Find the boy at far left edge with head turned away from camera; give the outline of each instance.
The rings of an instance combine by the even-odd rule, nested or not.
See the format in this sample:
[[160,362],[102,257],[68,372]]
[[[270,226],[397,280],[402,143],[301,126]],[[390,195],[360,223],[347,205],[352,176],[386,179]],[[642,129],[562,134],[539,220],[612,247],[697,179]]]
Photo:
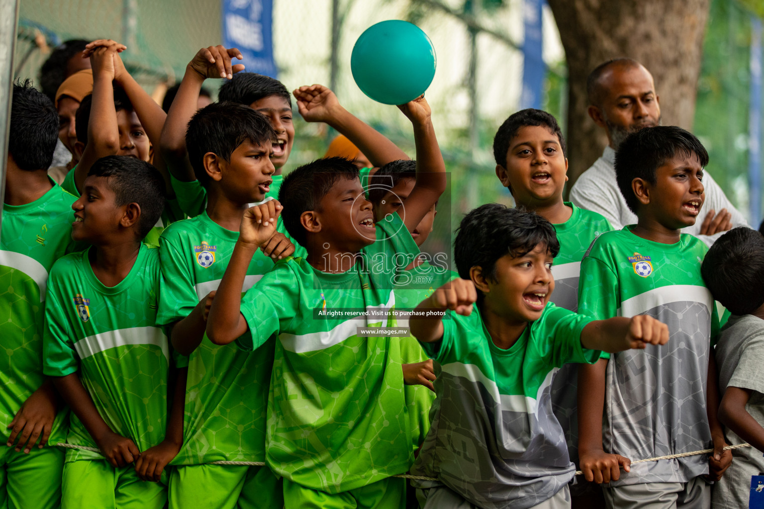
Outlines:
[[[13,85],[0,232],[0,507],[52,509],[61,501],[65,417],[42,371],[45,285],[72,247],[74,198],[47,176],[58,115],[29,82]],[[48,441],[52,446],[48,446]],[[21,450],[24,453],[21,453]]]

